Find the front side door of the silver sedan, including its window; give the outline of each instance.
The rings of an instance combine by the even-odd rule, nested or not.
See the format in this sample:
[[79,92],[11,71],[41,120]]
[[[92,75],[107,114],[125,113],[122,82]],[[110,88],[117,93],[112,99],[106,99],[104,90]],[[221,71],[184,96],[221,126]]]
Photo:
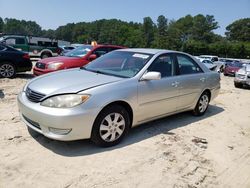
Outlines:
[[138,120],[145,121],[176,110],[178,87],[175,84],[175,64],[172,54],[160,55],[147,70],[160,72],[160,80],[139,81]]

